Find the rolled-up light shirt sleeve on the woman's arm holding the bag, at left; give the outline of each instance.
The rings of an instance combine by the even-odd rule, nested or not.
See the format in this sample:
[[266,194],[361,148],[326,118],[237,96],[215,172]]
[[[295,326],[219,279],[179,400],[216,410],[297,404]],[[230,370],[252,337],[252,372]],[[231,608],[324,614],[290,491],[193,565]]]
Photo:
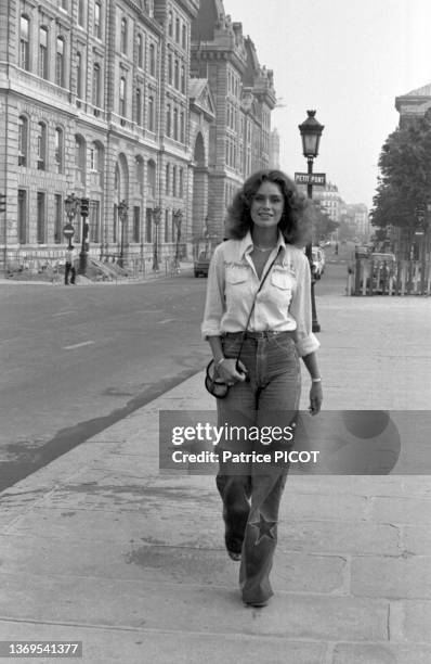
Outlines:
[[219,245],[212,255],[208,269],[207,298],[204,321],[200,325],[203,339],[220,336],[224,304],[224,258],[223,246]]

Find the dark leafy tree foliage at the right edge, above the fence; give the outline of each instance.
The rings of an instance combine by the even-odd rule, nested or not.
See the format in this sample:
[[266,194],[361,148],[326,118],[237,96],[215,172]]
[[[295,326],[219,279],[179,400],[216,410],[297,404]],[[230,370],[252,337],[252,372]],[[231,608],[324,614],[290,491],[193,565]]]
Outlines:
[[374,226],[412,226],[415,209],[431,200],[431,113],[397,128],[382,146]]

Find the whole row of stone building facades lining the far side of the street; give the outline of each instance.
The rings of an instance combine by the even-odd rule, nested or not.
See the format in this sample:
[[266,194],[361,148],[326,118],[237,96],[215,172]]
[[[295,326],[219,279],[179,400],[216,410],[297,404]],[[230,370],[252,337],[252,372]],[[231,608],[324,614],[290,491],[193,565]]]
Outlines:
[[221,240],[234,191],[269,164],[274,105],[221,1],[3,0],[0,270],[63,257],[71,193],[89,199],[88,235],[70,220],[93,257]]

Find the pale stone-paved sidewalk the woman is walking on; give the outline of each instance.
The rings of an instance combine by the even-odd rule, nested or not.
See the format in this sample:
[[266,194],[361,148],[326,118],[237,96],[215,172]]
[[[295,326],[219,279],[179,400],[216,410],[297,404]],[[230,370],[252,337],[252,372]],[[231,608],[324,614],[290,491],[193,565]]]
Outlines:
[[[429,409],[429,301],[318,315],[327,410]],[[246,609],[213,477],[158,471],[159,410],[213,407],[196,374],[0,495],[0,640],[81,640],[89,664],[429,664],[429,477],[291,473],[275,597]]]

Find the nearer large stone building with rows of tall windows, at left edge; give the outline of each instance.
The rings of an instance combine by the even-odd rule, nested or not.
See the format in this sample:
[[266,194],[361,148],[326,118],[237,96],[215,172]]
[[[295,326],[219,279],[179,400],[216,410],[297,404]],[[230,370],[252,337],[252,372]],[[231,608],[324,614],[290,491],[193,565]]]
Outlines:
[[[188,78],[198,4],[1,2],[0,268],[23,254],[63,254],[73,192],[90,200],[94,256],[123,251],[127,260],[151,260],[155,243],[160,256],[172,255],[181,215],[181,238],[191,237]],[[73,221],[76,244],[82,224]]]

